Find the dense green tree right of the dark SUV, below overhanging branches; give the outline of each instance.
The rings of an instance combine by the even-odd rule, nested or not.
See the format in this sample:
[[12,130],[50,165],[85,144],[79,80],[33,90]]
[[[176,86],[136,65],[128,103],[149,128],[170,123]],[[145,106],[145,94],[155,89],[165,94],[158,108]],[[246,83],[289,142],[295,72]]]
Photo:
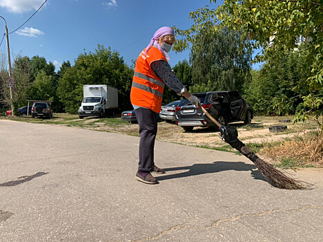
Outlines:
[[252,82],[245,85],[245,98],[255,113],[287,115],[300,109],[302,100],[295,92],[295,86],[306,80],[300,53],[292,52],[279,63],[267,63],[260,71],[252,72]]

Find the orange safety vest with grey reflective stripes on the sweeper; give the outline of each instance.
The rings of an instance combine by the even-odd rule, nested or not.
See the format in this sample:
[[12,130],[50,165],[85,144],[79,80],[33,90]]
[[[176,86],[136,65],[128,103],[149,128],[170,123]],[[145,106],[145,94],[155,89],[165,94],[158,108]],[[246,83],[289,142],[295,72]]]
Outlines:
[[159,113],[165,82],[157,77],[150,68],[150,64],[159,59],[167,62],[167,59],[155,46],[152,46],[146,55],[144,55],[145,50],[142,50],[136,62],[130,100],[135,106],[148,108]]

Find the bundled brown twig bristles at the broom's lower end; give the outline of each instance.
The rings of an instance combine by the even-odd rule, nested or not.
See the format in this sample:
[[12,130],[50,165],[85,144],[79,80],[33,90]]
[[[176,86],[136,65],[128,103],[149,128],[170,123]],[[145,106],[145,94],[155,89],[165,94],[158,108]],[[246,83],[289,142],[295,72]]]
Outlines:
[[244,145],[244,143],[241,141],[237,140],[235,144],[230,145],[249,158],[260,170],[268,183],[273,185],[273,187],[278,187],[281,189],[309,189],[309,185],[306,185],[302,181],[294,180],[293,178],[284,174],[282,171],[275,169],[275,167],[270,163],[267,163],[256,156],[255,153],[253,153],[253,151],[251,151],[251,149]]

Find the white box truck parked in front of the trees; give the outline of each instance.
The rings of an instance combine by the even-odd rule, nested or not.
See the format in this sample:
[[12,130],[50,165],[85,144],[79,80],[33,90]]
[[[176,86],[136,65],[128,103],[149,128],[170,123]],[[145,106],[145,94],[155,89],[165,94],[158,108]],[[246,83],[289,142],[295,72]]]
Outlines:
[[83,100],[79,107],[79,118],[104,117],[118,111],[118,90],[107,85],[84,85]]

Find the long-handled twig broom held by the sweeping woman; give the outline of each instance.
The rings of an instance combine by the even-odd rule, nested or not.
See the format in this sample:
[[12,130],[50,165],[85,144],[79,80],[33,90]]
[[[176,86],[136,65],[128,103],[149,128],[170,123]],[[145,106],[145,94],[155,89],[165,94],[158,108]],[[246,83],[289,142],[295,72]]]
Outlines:
[[301,181],[294,180],[293,178],[286,176],[286,174],[282,173],[273,167],[273,165],[265,162],[260,159],[258,156],[251,151],[249,147],[244,145],[237,136],[237,129],[235,127],[226,127],[224,125],[219,124],[215,118],[211,116],[208,111],[204,109],[203,106],[199,105],[199,108],[210,118],[216,125],[219,127],[219,131],[222,135],[222,140],[227,142],[231,147],[237,149],[240,153],[242,153],[246,158],[251,160],[255,166],[260,170],[264,178],[273,185],[273,187],[278,187],[281,189],[307,189],[308,186],[304,185]]

